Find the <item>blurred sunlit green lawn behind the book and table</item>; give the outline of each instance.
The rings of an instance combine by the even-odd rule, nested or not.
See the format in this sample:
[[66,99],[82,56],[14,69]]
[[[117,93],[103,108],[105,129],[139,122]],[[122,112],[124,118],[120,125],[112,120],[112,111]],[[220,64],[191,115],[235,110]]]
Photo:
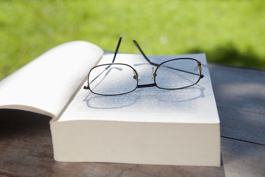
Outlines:
[[0,80],[45,51],[86,40],[147,55],[206,53],[265,69],[265,1],[0,1]]

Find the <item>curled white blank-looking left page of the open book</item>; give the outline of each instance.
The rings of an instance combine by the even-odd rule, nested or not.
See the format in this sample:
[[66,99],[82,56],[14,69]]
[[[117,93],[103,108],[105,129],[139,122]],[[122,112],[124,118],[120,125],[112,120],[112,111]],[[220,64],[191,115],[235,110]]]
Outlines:
[[58,116],[102,55],[85,41],[47,51],[0,82],[0,108]]

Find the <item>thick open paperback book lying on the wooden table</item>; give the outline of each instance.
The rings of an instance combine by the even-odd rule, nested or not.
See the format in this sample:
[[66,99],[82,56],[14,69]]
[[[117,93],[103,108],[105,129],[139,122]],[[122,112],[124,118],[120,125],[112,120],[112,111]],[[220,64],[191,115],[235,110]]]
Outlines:
[[[148,56],[155,63],[204,54]],[[139,88],[119,96],[84,90],[89,70],[113,54],[85,41],[51,49],[0,82],[0,108],[49,115],[54,157],[70,162],[220,166],[220,120],[209,71],[181,90]],[[118,54],[148,84],[142,55]]]

